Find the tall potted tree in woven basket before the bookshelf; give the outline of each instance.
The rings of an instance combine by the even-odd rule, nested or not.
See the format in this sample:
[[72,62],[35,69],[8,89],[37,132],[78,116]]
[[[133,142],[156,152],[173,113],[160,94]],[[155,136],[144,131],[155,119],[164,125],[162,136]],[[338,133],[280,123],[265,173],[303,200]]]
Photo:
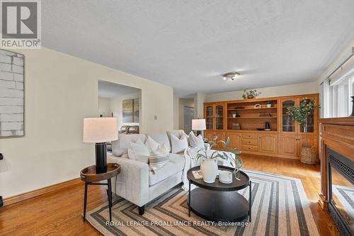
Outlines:
[[314,111],[316,108],[315,106],[315,99],[307,99],[304,98],[300,106],[292,106],[287,108],[287,114],[295,120],[297,123],[304,127],[304,134],[306,137],[305,145],[301,147],[301,154],[300,160],[302,163],[305,164],[315,164],[316,163],[316,152],[314,147],[309,146],[309,140],[307,137],[307,118],[310,113]]

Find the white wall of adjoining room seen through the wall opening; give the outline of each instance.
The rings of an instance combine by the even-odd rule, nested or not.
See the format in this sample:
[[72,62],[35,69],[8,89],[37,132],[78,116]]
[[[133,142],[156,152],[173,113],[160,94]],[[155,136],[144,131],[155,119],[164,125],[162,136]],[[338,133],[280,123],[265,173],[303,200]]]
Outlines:
[[141,93],[135,94],[125,94],[122,96],[118,96],[110,99],[110,111],[113,112],[113,116],[117,118],[118,122],[118,130],[122,125],[139,125],[139,123],[124,123],[123,122],[123,104],[122,101],[125,99],[139,99],[139,118],[141,118]]

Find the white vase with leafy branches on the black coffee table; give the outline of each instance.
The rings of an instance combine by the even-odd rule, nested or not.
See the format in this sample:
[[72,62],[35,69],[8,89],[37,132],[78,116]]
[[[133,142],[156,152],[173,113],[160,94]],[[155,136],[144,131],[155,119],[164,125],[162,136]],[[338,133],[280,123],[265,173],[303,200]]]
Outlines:
[[235,178],[238,179],[237,173],[239,173],[239,170],[242,168],[243,162],[242,159],[239,157],[239,154],[241,154],[240,151],[235,150],[232,147],[227,147],[229,145],[230,139],[227,137],[227,141],[224,142],[224,140],[218,140],[217,141],[217,136],[210,140],[208,143],[210,144],[210,149],[217,145],[217,142],[222,143],[223,147],[227,152],[222,152],[222,151],[215,151],[212,152],[211,155],[207,154],[207,150],[201,149],[198,151],[197,156],[195,159],[201,159],[200,161],[200,171],[202,172],[202,178],[203,181],[207,183],[214,183],[215,178],[218,173],[217,169],[217,157],[229,161],[232,167],[235,167],[234,172],[232,172],[235,175]]

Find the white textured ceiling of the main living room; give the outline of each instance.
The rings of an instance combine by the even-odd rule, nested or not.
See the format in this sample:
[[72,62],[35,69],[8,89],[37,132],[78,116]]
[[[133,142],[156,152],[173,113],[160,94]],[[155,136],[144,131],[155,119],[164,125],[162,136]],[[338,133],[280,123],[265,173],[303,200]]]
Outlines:
[[[45,0],[42,45],[178,96],[314,81],[354,38],[353,0]],[[221,79],[238,71],[234,82]]]

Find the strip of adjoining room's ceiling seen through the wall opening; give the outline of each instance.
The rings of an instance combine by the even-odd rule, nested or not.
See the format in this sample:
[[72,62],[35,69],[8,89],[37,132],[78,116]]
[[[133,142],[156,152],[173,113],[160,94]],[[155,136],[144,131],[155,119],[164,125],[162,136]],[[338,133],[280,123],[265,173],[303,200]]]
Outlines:
[[130,86],[121,84],[113,84],[110,82],[98,81],[98,96],[103,98],[114,98],[116,96],[122,96],[125,94],[135,94],[140,89],[136,89]]

